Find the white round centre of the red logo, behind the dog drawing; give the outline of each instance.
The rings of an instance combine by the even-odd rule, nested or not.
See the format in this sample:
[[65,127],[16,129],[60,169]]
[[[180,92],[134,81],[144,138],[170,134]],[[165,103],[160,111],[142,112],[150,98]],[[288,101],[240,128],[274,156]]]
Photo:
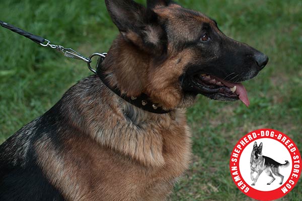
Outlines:
[[[262,147],[261,159],[259,158],[259,153],[253,151],[254,145],[256,145],[255,143],[257,147],[260,147],[260,145]],[[256,155],[258,159],[254,158],[254,160],[252,160],[251,158]],[[265,161],[263,156],[272,160],[267,159],[267,161]],[[275,162],[277,162],[276,164],[285,164],[285,161],[288,161],[289,164],[274,167]],[[256,168],[257,165],[261,166],[262,173],[258,175],[259,177],[255,182],[257,172],[253,172],[252,169]],[[245,147],[239,160],[239,169],[243,179],[251,188],[260,191],[271,191],[279,188],[290,177],[292,160],[289,151],[283,144],[274,139],[262,138],[251,142]],[[253,173],[251,174],[251,172]],[[284,178],[282,184],[280,184],[282,176]],[[251,177],[253,177],[254,180],[252,180]],[[270,183],[272,180],[273,182]],[[254,182],[255,185],[252,185]]]

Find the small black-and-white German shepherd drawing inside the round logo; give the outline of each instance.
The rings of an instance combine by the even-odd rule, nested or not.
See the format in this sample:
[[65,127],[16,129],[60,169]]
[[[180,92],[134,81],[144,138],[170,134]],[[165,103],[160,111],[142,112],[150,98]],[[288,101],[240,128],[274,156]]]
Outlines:
[[[263,144],[260,143],[257,146],[257,142],[254,143],[253,151],[251,154],[251,179],[254,181],[252,185],[255,185],[260,174],[264,171],[268,176],[272,177],[272,180],[267,183],[270,185],[276,178],[273,176],[276,175],[281,178],[280,184],[283,183],[284,176],[280,174],[279,167],[287,167],[289,166],[289,162],[285,161],[284,164],[278,163],[277,161],[262,155],[262,146]],[[254,178],[254,172],[257,173],[256,178]]]

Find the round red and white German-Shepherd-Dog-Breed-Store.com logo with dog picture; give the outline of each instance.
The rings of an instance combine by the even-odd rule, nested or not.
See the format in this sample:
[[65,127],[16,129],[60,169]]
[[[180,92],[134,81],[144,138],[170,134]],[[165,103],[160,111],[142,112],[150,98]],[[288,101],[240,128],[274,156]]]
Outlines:
[[247,133],[230,160],[232,178],[247,196],[268,201],[293,189],[301,174],[301,156],[294,142],[274,129]]

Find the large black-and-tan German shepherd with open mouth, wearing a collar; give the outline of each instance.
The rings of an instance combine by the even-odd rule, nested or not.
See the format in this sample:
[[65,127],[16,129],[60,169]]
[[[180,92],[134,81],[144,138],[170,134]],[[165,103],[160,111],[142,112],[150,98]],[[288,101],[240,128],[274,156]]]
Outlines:
[[[197,94],[248,105],[240,82],[265,54],[170,1],[105,3],[120,34],[104,78],[75,84],[1,145],[0,200],[165,200],[190,163],[185,108]],[[125,101],[141,94],[167,112]]]

